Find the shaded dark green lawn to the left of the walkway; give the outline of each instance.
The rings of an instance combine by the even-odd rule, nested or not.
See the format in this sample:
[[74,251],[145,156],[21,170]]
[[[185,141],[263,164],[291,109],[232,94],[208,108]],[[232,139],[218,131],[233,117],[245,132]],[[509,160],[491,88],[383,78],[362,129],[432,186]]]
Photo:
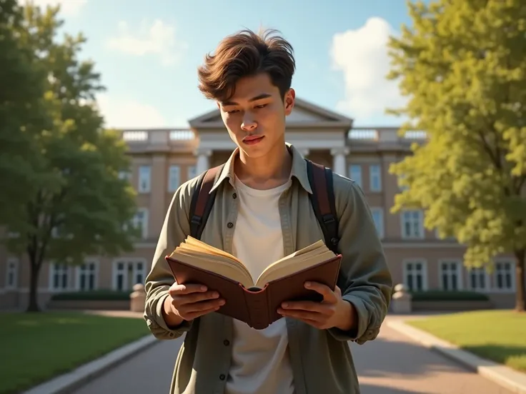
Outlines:
[[18,393],[149,333],[142,318],[0,313],[0,393]]

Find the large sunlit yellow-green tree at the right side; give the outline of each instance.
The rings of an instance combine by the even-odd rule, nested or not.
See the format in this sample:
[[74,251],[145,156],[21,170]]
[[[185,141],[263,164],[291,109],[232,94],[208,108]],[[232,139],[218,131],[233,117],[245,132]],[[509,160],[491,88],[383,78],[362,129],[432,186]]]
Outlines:
[[390,112],[428,141],[395,163],[407,186],[392,212],[418,207],[425,226],[467,246],[465,264],[516,260],[516,310],[525,310],[526,3],[408,3],[412,26],[392,37],[388,79],[405,108]]

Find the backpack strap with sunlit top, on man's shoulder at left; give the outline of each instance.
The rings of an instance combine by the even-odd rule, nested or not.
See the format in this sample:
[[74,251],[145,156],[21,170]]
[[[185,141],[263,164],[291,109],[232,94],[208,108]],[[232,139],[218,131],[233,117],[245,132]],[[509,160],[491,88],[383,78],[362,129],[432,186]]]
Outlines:
[[196,239],[201,239],[204,226],[207,224],[208,216],[214,206],[217,189],[212,191],[214,181],[218,173],[221,172],[224,164],[210,168],[202,173],[192,194],[190,203],[190,235]]

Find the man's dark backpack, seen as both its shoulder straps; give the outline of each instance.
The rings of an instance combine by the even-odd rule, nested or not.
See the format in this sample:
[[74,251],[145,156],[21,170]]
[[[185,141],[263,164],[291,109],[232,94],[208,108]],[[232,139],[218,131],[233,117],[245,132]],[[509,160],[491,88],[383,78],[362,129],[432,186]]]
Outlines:
[[[334,188],[332,184],[332,170],[324,167],[318,163],[314,163],[309,159],[307,161],[307,176],[309,178],[312,194],[309,194],[309,199],[312,204],[312,209],[316,215],[319,226],[321,226],[325,245],[334,253],[337,253],[337,246],[339,242],[338,237],[338,218],[336,213],[336,206],[334,203]],[[222,171],[224,164],[210,168],[202,173],[198,180],[194,193],[192,194],[192,202],[190,203],[190,232],[191,236],[200,239],[204,226],[207,223],[212,206],[214,206],[214,199],[217,188],[212,193],[212,186],[218,173]]]

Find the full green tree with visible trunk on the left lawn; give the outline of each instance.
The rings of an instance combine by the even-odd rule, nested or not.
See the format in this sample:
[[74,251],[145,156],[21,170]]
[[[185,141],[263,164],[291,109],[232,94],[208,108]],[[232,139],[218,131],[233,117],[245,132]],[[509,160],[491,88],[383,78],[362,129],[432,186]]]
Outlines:
[[79,60],[86,39],[55,39],[62,24],[58,13],[59,7],[26,6],[18,31],[46,70],[45,116],[24,126],[39,166],[19,214],[6,223],[19,233],[9,238],[9,249],[29,257],[29,311],[39,310],[36,288],[44,261],[79,264],[89,255],[114,256],[132,248],[136,231],[126,226],[136,209],[134,190],[119,178],[129,168],[125,143],[118,131],[104,129],[94,98],[103,89],[100,76],[91,61]]

